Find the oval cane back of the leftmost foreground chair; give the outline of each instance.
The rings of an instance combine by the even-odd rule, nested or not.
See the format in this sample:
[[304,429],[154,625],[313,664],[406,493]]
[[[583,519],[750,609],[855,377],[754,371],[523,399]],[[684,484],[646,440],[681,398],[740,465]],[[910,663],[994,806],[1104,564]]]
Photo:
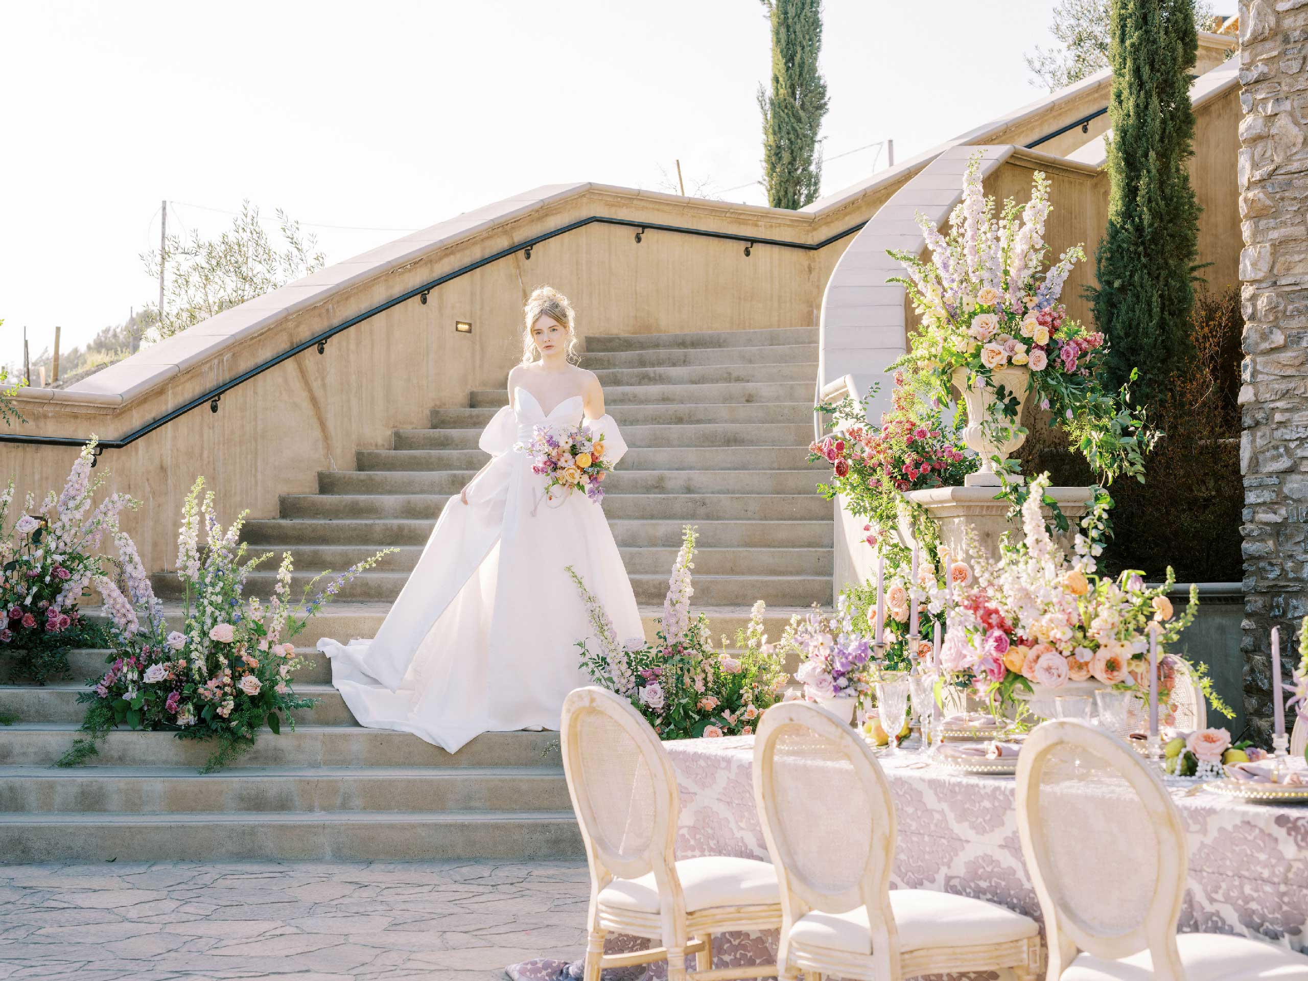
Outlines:
[[615,878],[647,872],[666,892],[676,879],[680,803],[676,774],[653,727],[613,692],[578,688],[564,700],[560,742],[593,895]]

